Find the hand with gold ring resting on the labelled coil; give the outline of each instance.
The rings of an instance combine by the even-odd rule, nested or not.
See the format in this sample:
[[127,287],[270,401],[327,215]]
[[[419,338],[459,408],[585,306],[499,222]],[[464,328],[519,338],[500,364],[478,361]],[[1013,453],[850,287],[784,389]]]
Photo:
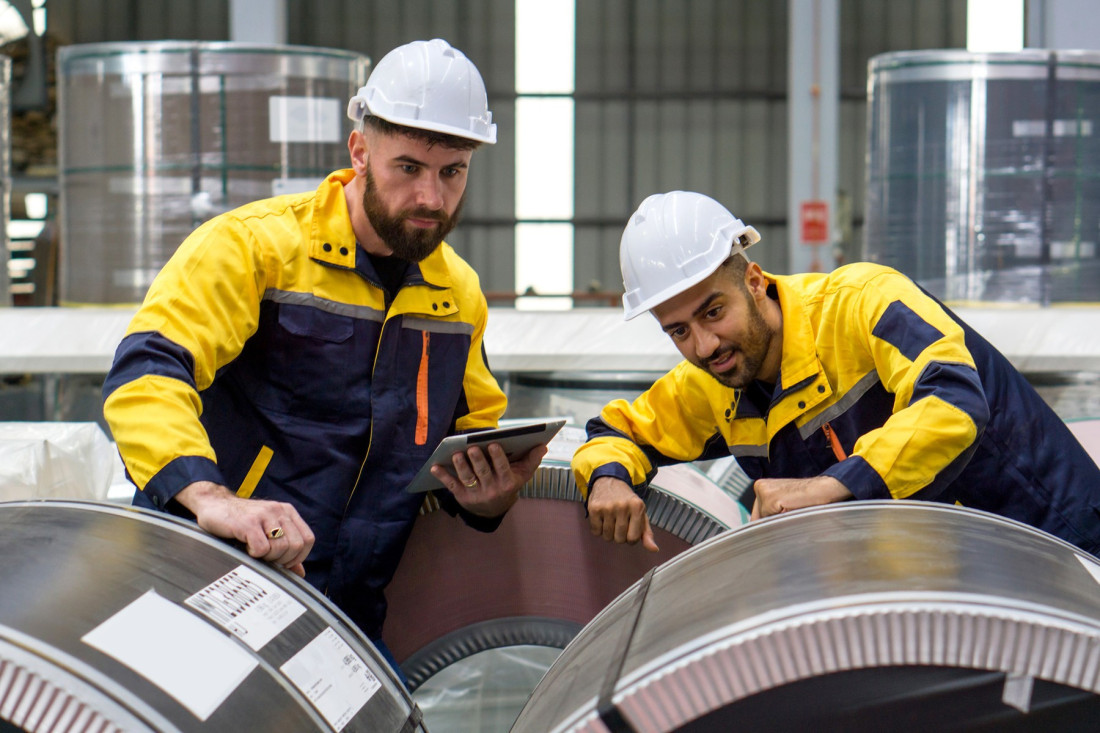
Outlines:
[[241,499],[211,481],[184,486],[176,501],[211,535],[237,539],[252,557],[306,577],[302,562],[314,547],[314,533],[290,504]]

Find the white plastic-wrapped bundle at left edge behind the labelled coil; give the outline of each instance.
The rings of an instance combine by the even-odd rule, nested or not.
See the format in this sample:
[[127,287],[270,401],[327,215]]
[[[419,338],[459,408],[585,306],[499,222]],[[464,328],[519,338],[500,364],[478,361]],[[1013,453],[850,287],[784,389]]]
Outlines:
[[0,423],[0,501],[102,501],[112,455],[95,423]]

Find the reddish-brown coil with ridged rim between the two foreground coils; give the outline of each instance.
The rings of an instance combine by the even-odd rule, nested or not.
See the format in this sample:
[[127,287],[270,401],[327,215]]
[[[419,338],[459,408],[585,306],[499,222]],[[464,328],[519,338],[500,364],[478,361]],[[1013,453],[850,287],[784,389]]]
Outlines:
[[697,469],[662,468],[647,510],[660,547],[615,546],[588,532],[569,458],[583,430],[565,428],[501,527],[473,532],[428,503],[386,591],[384,638],[410,687],[485,649],[563,648],[638,578],[748,516]]

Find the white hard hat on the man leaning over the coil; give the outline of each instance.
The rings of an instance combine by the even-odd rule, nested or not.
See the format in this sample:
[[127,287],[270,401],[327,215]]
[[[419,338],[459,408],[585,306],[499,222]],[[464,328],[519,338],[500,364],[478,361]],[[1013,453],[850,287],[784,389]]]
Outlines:
[[710,196],[653,194],[627,221],[619,244],[626,320],[703,282],[759,241],[756,229]]

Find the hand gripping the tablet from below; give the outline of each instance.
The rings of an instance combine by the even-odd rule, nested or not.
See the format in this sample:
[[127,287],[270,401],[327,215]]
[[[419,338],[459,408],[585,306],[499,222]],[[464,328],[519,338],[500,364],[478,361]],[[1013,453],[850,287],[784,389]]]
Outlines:
[[487,451],[471,446],[464,453],[458,452],[451,457],[453,474],[442,466],[432,466],[431,474],[471,514],[501,516],[519,499],[519,490],[531,480],[546,455],[547,447],[537,446],[522,458],[509,463],[498,442],[490,444]]

